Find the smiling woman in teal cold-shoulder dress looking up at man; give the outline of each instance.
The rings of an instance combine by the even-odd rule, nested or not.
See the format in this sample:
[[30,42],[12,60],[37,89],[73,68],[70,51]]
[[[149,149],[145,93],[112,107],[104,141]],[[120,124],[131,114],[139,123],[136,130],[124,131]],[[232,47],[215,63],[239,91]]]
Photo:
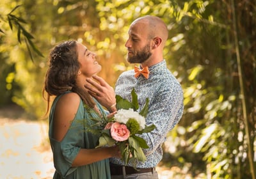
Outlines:
[[[118,147],[95,148],[99,136],[88,132],[88,126],[95,123],[92,118],[106,116],[84,88],[86,79],[100,70],[95,54],[74,40],[60,43],[51,51],[44,91],[47,113],[50,97],[56,97],[49,114],[49,139],[56,168],[53,178],[111,178],[108,158],[120,157]],[[106,107],[115,111],[115,105]]]

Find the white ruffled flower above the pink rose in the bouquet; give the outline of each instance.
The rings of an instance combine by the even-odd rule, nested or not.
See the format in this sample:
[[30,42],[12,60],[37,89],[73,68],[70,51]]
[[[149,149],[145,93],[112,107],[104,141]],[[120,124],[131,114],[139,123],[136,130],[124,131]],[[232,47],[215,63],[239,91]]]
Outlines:
[[133,111],[133,109],[120,109],[114,116],[116,122],[124,124],[126,124],[130,118],[138,121],[138,123],[140,124],[140,130],[145,128],[145,118],[141,116],[137,111]]

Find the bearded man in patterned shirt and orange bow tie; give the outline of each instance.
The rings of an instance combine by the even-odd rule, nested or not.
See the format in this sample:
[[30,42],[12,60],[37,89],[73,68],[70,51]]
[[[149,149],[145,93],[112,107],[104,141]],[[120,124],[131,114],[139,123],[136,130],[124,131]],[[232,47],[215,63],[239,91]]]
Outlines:
[[[156,128],[141,135],[149,148],[143,150],[147,160],[138,161],[136,164],[139,170],[124,167],[122,160],[112,158],[111,178],[158,178],[155,167],[163,157],[161,145],[166,140],[166,134],[179,122],[184,108],[182,88],[163,59],[167,38],[166,24],[158,17],[140,17],[134,20],[129,28],[129,38],[125,43],[128,51],[127,61],[140,63],[140,68],[121,74],[116,81],[115,93],[131,101],[131,91],[134,88],[138,95],[139,111],[145,105],[146,98],[149,98],[146,123],[154,124]],[[110,112],[115,111],[113,89],[100,77],[95,76],[95,80],[99,81],[99,84],[90,79],[88,82],[96,88],[86,88]]]

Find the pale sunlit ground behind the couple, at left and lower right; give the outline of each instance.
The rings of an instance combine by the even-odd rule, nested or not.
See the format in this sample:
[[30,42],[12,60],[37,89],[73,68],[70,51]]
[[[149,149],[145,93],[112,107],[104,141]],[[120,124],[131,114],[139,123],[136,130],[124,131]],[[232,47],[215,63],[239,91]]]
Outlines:
[[[49,179],[54,173],[47,121],[27,120],[13,105],[0,109],[0,178]],[[178,167],[157,167],[159,179],[191,178]]]

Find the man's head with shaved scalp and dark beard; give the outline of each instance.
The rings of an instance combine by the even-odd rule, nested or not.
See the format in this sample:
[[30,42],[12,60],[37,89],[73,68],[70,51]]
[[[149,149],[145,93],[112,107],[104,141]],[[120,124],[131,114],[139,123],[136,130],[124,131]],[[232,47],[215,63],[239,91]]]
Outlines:
[[158,17],[147,15],[134,20],[125,43],[128,50],[127,61],[154,65],[156,58],[163,60],[163,48],[167,38],[168,29]]

